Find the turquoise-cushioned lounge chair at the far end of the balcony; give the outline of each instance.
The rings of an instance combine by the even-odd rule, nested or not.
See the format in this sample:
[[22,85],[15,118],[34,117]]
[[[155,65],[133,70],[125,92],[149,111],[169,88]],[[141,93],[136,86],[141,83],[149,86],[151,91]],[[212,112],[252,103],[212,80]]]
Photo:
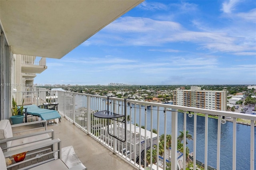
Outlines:
[[38,116],[42,120],[52,120],[52,119],[59,119],[60,121],[60,114],[58,111],[50,110],[50,109],[42,109],[41,106],[36,105],[24,105],[23,112],[25,113],[25,122],[27,121],[27,115]]

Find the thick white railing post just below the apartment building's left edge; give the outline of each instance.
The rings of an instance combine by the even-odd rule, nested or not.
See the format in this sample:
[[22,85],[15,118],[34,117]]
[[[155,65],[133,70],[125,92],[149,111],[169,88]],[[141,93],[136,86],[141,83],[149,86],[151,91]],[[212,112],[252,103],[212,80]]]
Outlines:
[[177,137],[178,137],[178,109],[172,109],[172,151],[171,151],[171,169],[177,169]]

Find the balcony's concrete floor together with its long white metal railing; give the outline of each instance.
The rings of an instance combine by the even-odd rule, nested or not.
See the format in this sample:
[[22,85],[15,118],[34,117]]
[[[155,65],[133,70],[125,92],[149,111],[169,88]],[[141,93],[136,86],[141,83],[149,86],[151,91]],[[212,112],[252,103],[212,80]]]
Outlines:
[[[62,122],[48,125],[48,129],[55,131],[55,137],[62,140],[62,147],[72,145],[78,158],[88,169],[144,169],[144,162],[153,164],[154,153],[160,154],[160,135],[172,135],[170,154],[164,150],[162,160],[171,160],[171,169],[180,169],[186,166],[186,156],[179,157],[178,134],[179,131],[192,135],[193,140],[184,147],[189,147],[194,160],[204,163],[204,166],[212,166],[219,169],[256,169],[255,165],[255,121],[256,115],[200,109],[162,103],[126,100],[98,95],[72,93],[65,91],[31,91],[31,96],[38,105],[46,101],[55,100],[59,103],[58,111],[62,115]],[[42,93],[42,94],[40,94]],[[46,95],[44,95],[46,94]],[[25,97],[24,92],[14,92],[15,96]],[[41,97],[38,97],[41,96]],[[29,102],[28,102],[29,103]],[[108,135],[105,119],[93,117],[96,111],[109,110],[114,113],[129,115],[127,120],[127,140],[119,140]],[[188,112],[194,113],[188,117]],[[197,113],[205,114],[205,117],[197,116]],[[208,115],[217,115],[218,119],[210,119]],[[231,117],[222,125],[222,116]],[[233,119],[236,118],[236,119]],[[237,124],[237,119],[248,121],[248,125]],[[134,126],[132,124],[137,124]],[[110,133],[124,137],[124,123],[110,120]],[[145,128],[141,128],[144,126]],[[153,132],[156,129],[156,133]],[[122,133],[123,132],[123,133]],[[136,133],[136,135],[135,135]],[[85,135],[86,134],[86,135]],[[145,135],[146,134],[146,135]],[[156,136],[154,136],[156,134]],[[134,137],[136,136],[136,137]],[[152,137],[151,137],[152,136]],[[186,141],[184,134],[183,141]],[[156,144],[156,145],[155,145]],[[168,142],[164,140],[164,148]],[[130,154],[123,149],[130,150]],[[168,147],[167,147],[168,148]],[[148,150],[147,152],[143,152]],[[156,152],[153,152],[156,150]],[[241,151],[242,150],[242,151]],[[184,150],[183,150],[183,153]],[[247,155],[247,156],[245,156]],[[144,160],[149,157],[150,159]],[[167,161],[156,159],[154,163],[158,169],[166,169]],[[196,161],[192,162],[194,170]],[[150,166],[152,167],[152,166]],[[199,167],[199,166],[198,166]],[[232,167],[232,168],[231,168]]]

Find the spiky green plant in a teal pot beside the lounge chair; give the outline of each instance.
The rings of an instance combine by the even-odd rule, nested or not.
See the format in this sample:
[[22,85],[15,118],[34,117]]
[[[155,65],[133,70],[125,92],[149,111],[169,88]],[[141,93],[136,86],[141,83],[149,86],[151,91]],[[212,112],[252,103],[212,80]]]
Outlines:
[[23,103],[24,99],[22,100],[22,105],[18,106],[15,99],[12,97],[12,124],[18,124],[23,122]]

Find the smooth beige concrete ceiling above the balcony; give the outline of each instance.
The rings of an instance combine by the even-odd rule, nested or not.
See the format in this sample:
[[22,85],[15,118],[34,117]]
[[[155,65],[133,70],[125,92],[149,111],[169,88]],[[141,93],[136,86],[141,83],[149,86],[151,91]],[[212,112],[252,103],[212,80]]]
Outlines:
[[0,1],[12,52],[60,59],[143,0]]

